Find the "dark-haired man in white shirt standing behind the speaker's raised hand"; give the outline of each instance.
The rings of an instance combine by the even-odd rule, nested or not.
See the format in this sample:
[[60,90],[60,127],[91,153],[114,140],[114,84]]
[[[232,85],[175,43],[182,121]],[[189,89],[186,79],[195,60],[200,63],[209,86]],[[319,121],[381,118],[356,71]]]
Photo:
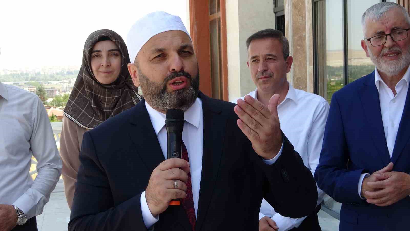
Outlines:
[[[328,102],[319,95],[294,89],[287,82],[286,73],[292,67],[293,58],[289,56],[289,42],[282,32],[273,29],[260,30],[246,40],[246,48],[249,58],[246,63],[256,85],[256,90],[248,95],[265,106],[269,104],[272,95],[281,96],[278,102],[280,128],[313,175],[319,164],[329,111]],[[239,99],[244,100],[245,97]],[[232,102],[237,103],[237,100]],[[322,198],[323,191],[318,189],[318,205]],[[276,213],[275,209],[263,200],[259,214],[259,230],[320,231],[317,218],[319,209],[318,206],[308,217],[293,219]]]

